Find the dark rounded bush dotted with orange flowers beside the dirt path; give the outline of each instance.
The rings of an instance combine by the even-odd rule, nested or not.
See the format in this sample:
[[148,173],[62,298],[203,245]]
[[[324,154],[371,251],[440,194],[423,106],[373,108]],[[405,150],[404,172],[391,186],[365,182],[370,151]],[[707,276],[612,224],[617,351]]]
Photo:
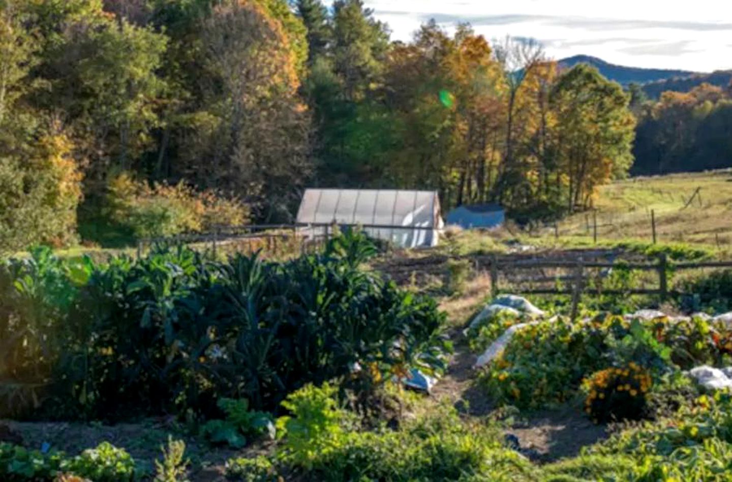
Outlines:
[[638,420],[646,412],[651,375],[633,362],[597,371],[583,382],[585,411],[596,422]]

